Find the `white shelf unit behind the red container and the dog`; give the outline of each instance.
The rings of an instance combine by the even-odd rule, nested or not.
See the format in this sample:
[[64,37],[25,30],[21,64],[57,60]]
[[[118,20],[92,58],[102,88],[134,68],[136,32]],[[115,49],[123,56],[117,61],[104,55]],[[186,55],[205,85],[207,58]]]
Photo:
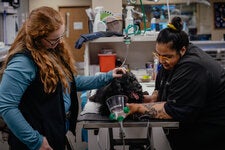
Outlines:
[[113,49],[117,58],[122,61],[127,57],[125,64],[128,64],[130,69],[145,68],[146,62],[153,62],[155,40],[156,36],[132,36],[130,44],[125,44],[123,37],[102,37],[86,42],[84,74],[92,75],[90,67],[99,64],[98,53],[101,49]]

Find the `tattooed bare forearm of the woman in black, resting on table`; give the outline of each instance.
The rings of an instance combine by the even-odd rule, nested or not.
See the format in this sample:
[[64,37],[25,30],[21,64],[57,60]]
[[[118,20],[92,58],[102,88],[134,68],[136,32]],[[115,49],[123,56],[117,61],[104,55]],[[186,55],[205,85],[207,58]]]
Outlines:
[[145,103],[143,104],[146,108],[144,113],[152,118],[171,119],[172,117],[165,112],[164,104],[165,102]]

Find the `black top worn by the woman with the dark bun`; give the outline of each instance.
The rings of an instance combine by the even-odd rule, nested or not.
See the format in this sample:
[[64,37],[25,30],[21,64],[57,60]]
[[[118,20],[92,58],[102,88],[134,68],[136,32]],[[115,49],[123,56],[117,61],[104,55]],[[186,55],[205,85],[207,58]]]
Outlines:
[[188,125],[225,126],[225,70],[193,44],[173,70],[161,67],[156,90],[173,119]]

